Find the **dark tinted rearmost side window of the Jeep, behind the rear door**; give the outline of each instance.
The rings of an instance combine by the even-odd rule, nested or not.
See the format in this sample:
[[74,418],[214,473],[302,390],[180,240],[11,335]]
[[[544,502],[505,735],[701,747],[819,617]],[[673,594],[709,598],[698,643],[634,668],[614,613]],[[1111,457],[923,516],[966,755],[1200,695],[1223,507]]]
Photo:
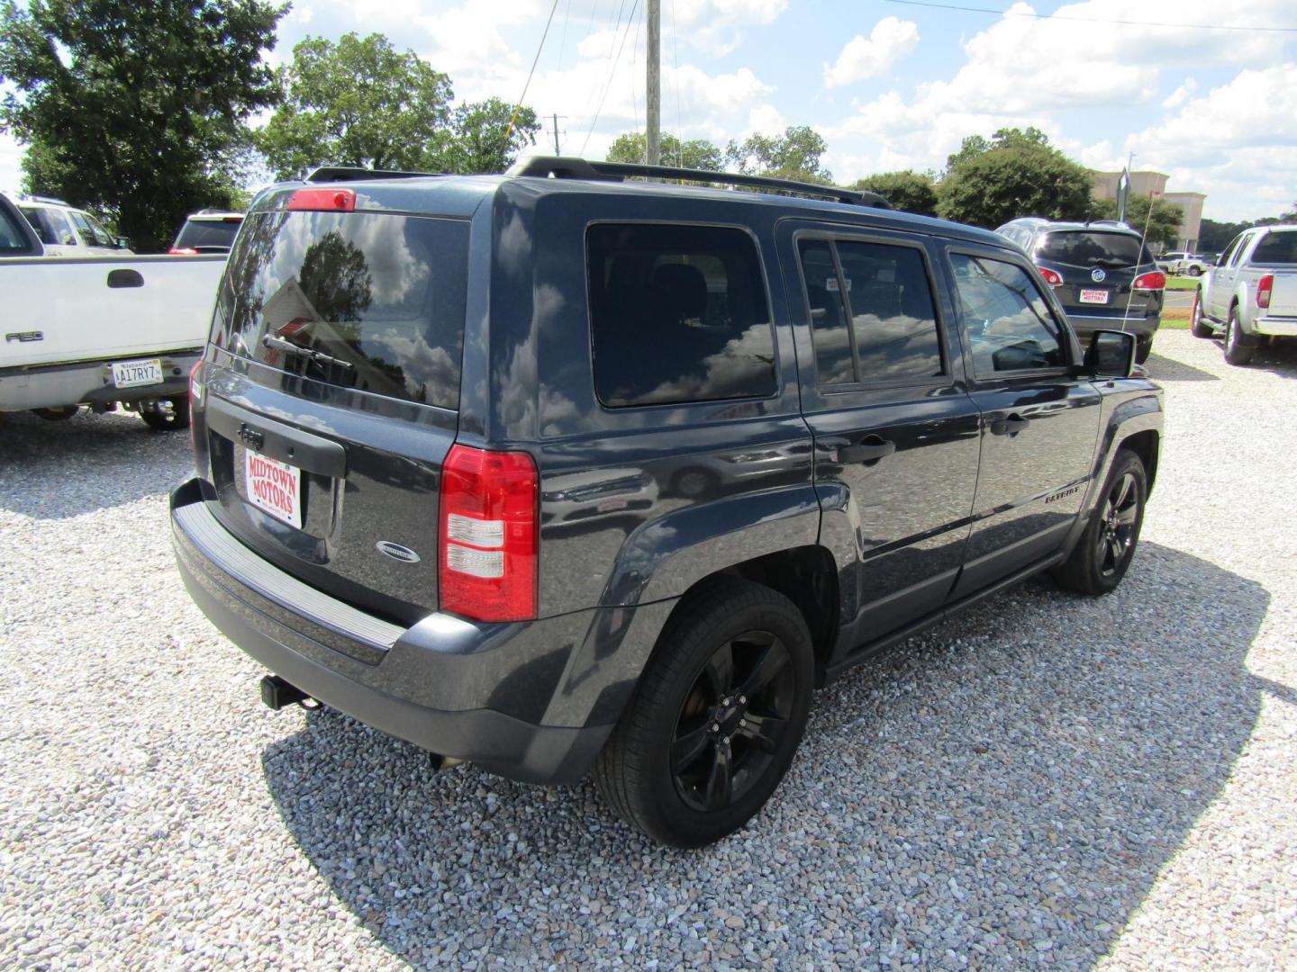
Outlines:
[[641,406],[774,394],[770,312],[747,233],[594,226],[586,249],[601,402]]

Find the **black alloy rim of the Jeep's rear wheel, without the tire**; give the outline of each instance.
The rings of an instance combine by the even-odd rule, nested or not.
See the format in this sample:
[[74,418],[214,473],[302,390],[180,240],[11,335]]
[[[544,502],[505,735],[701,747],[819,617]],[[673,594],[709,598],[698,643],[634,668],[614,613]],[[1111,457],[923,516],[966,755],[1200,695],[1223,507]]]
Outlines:
[[792,658],[772,631],[744,631],[707,660],[671,746],[671,774],[686,806],[724,810],[769,769],[794,709]]

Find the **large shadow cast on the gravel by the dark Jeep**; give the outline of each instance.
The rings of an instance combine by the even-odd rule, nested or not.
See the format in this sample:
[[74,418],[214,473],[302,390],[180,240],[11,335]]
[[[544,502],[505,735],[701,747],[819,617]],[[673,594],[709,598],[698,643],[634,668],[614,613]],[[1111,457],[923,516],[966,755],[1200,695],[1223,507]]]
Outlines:
[[1293,697],[1245,669],[1267,605],[1152,543],[1108,597],[1019,586],[821,691],[772,804],[693,853],[615,822],[589,783],[433,774],[333,712],[262,763],[302,853],[412,966],[785,967],[842,960],[848,934],[857,966],[1088,966],[1224,785],[1262,693]]

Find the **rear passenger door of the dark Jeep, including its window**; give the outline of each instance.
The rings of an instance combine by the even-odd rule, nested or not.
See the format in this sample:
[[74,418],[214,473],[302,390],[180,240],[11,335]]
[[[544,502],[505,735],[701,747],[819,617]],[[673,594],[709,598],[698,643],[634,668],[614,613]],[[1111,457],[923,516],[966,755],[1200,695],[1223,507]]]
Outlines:
[[850,538],[835,551],[850,564],[850,651],[944,603],[969,530],[978,412],[925,237],[786,223],[779,249],[800,316],[821,543]]

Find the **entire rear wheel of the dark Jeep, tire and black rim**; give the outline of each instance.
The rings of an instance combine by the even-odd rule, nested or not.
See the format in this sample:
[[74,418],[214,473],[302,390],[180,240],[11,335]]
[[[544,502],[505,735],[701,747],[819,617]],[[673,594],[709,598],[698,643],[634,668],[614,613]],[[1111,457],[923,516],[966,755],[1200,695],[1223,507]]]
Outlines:
[[733,833],[792,762],[813,682],[811,634],[792,601],[748,581],[708,583],[658,639],[595,763],[599,793],[674,848]]

